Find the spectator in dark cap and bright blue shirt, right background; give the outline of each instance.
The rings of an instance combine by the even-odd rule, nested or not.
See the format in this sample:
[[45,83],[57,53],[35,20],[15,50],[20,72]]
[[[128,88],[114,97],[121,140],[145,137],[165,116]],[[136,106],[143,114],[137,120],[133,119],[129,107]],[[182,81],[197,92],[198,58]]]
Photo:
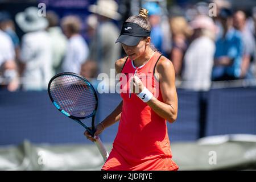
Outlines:
[[223,34],[217,38],[212,80],[235,80],[241,76],[242,36],[233,27],[232,11],[221,9],[218,18]]

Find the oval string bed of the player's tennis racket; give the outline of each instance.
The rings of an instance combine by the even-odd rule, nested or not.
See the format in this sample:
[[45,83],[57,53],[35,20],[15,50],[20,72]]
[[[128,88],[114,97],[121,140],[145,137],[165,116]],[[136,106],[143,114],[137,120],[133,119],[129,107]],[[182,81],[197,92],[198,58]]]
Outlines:
[[96,108],[94,90],[79,77],[64,75],[55,78],[51,82],[50,92],[64,111],[76,117],[86,117]]

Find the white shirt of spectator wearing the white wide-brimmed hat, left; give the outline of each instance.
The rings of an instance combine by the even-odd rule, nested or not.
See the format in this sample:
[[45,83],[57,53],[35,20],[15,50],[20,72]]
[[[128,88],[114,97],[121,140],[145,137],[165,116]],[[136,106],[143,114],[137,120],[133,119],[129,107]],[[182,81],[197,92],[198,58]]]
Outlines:
[[51,42],[46,31],[29,32],[23,36],[20,52],[26,64],[23,73],[25,90],[47,89],[52,73]]

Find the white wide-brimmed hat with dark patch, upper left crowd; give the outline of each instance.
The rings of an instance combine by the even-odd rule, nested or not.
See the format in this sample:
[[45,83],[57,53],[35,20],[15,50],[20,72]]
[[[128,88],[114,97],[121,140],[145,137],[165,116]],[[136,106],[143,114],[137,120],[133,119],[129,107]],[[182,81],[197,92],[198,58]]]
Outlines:
[[48,26],[47,19],[39,16],[36,7],[28,7],[25,11],[16,14],[15,20],[24,32],[44,30]]

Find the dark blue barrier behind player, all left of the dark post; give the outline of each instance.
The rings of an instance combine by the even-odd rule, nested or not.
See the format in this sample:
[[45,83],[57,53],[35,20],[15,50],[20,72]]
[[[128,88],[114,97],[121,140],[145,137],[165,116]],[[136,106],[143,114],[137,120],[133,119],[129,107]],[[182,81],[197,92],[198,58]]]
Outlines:
[[[179,92],[179,116],[168,123],[170,140],[195,140],[198,132],[198,94]],[[119,94],[98,94],[96,122],[102,121],[121,102]],[[47,92],[0,92],[0,144],[18,144],[24,139],[34,143],[89,143],[84,128],[59,113]],[[102,133],[112,143],[118,122]]]

